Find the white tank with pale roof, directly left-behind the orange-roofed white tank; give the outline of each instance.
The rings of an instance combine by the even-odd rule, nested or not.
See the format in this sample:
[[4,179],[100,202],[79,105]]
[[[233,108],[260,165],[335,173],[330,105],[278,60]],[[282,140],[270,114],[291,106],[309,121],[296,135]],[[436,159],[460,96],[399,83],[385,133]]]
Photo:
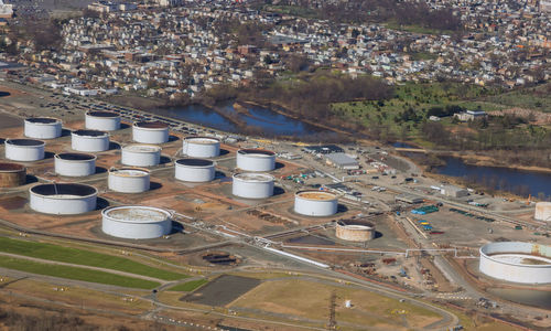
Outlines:
[[273,195],[273,177],[267,173],[234,174],[231,193],[246,199],[266,199]]

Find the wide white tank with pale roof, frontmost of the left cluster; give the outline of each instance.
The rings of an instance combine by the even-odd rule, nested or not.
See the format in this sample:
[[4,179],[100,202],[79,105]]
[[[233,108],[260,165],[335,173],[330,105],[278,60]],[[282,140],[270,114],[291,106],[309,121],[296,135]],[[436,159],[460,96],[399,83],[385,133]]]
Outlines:
[[171,214],[141,205],[108,207],[101,212],[101,229],[119,238],[159,238],[171,233]]

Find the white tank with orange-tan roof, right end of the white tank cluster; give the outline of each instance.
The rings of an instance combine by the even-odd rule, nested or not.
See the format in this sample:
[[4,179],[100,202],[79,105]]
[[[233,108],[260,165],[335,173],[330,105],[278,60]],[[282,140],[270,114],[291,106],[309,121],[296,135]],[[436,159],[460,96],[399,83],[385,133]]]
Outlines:
[[338,199],[324,191],[300,191],[294,195],[294,212],[306,216],[331,216],[336,214]]

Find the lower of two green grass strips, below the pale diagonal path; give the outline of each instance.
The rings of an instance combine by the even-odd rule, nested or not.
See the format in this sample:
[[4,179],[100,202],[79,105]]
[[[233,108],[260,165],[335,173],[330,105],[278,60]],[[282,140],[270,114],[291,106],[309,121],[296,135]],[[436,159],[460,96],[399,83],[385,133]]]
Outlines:
[[0,267],[31,273],[31,274],[39,274],[44,276],[98,282],[105,285],[115,285],[129,288],[152,289],[160,285],[159,282],[155,281],[114,275],[104,271],[96,271],[96,270],[68,267],[68,266],[41,264],[26,259],[18,259],[3,256],[0,257]]

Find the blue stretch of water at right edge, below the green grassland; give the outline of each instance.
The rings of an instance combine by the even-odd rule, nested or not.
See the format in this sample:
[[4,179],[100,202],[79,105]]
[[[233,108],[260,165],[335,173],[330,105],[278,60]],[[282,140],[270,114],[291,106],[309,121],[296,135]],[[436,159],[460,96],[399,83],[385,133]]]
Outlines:
[[435,167],[440,174],[461,177],[486,186],[515,194],[551,196],[551,173],[525,171],[500,167],[469,166],[460,158],[441,157],[445,166]]

